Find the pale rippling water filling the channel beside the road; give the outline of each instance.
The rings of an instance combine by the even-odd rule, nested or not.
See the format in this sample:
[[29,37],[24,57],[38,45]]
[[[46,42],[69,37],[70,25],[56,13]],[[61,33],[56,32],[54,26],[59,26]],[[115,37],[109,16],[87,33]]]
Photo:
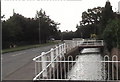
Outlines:
[[[91,52],[91,53],[90,53]],[[85,48],[67,74],[71,80],[104,80],[103,57],[98,48]]]

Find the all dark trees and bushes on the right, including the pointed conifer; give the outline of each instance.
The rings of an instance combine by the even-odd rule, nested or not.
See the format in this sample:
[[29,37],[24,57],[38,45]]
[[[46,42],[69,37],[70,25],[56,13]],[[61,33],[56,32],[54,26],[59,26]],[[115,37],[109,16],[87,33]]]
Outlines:
[[63,38],[103,39],[109,50],[113,47],[120,48],[120,14],[113,12],[109,1],[106,2],[105,7],[84,11],[82,20],[76,28],[75,32],[63,33]]

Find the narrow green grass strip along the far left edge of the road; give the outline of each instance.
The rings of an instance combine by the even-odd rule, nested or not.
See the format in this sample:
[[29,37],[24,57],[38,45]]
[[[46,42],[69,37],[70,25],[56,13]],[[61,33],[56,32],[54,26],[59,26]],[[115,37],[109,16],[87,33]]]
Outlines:
[[43,46],[49,46],[49,45],[57,44],[57,43],[58,42],[49,42],[49,43],[46,43],[46,44],[35,44],[35,45],[18,46],[18,47],[15,47],[15,48],[3,49],[2,53],[20,51],[20,50],[25,50],[25,49],[30,49],[30,48],[37,48],[37,47],[43,47]]

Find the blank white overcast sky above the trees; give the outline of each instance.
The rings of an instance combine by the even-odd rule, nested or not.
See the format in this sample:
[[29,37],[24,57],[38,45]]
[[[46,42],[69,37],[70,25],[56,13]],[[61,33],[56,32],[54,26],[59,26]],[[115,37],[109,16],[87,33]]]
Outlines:
[[[82,12],[94,7],[104,7],[107,0],[1,0],[1,15],[5,20],[15,13],[27,18],[34,18],[41,8],[55,22],[61,23],[61,31],[75,31],[82,20]],[[118,11],[120,0],[109,0],[114,11]]]

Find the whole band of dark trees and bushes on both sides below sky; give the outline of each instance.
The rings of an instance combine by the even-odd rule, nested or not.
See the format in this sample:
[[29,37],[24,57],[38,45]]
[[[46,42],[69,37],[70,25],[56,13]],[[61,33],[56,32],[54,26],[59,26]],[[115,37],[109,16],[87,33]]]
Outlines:
[[35,18],[26,18],[14,13],[2,22],[3,52],[14,46],[45,44],[50,39],[63,41],[73,38],[103,39],[109,50],[120,48],[120,14],[113,12],[109,1],[104,7],[83,11],[82,20],[76,25],[75,32],[61,32],[58,25],[60,23],[50,19],[42,9],[37,11]]

